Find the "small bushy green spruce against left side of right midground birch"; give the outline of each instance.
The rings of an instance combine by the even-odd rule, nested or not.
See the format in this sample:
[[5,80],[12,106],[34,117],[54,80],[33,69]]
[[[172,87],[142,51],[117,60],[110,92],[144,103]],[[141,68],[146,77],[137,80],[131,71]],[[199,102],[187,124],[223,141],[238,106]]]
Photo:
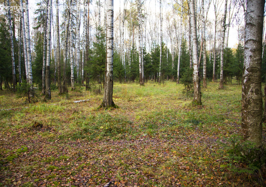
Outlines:
[[183,76],[180,78],[180,82],[184,84],[183,94],[187,97],[193,96],[193,70],[192,68],[186,68]]

